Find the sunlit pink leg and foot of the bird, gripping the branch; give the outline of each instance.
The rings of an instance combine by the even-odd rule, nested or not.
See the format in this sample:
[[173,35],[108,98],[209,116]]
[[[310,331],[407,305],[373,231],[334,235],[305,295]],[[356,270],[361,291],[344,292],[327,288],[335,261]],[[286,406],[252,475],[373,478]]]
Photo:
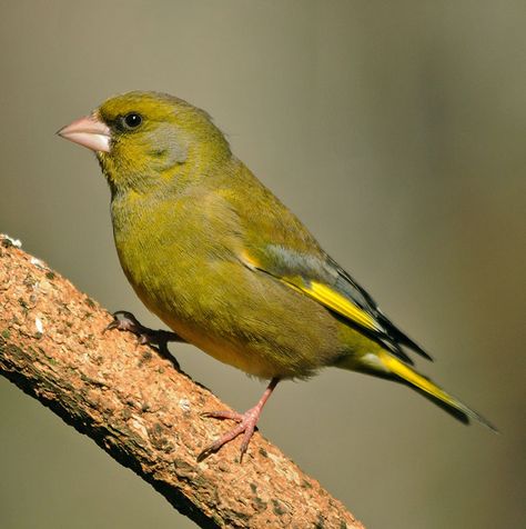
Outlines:
[[246,452],[246,449],[249,448],[249,443],[252,438],[252,435],[254,433],[257,420],[260,419],[261,410],[265,406],[265,402],[269,400],[269,397],[272,395],[272,391],[274,391],[274,388],[277,386],[279,381],[279,378],[273,378],[257,403],[244,413],[236,413],[235,411],[229,410],[204,412],[203,417],[212,417],[214,419],[230,419],[239,422],[239,425],[229,432],[226,432],[224,436],[220,437],[210,447],[205,448],[198,456],[198,461],[202,461],[203,459],[208,458],[210,455],[216,452],[223,445],[226,445],[227,442],[232,441],[237,436],[243,433],[240,453],[241,462],[243,460],[244,453]]

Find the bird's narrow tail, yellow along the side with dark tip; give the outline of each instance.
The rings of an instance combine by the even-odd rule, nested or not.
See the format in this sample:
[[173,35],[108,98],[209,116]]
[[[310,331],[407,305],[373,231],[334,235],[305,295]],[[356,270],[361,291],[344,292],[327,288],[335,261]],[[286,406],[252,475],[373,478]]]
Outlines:
[[[468,408],[455,397],[452,397],[449,393],[432,382],[427,377],[418,373],[398,358],[390,355],[383,349],[376,351],[375,357],[376,361],[374,363],[376,365],[376,369],[361,369],[356,365],[354,366],[354,369],[357,368],[357,370],[363,370],[372,375],[386,377],[392,380],[403,382],[416,390],[422,396],[426,397],[435,405],[439,406],[443,410],[447,411],[459,421],[468,423],[471,420],[476,420],[490,430],[498,431],[479,413]],[[348,366],[347,369],[348,368],[351,368],[351,366]]]

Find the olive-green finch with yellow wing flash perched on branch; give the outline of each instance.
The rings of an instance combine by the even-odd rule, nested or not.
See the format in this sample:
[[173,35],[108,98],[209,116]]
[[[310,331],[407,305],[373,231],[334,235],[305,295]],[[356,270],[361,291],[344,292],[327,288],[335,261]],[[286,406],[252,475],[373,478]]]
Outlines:
[[[166,93],[131,91],[58,134],[95,152],[120,263],[172,329],[164,342],[192,343],[270,381],[244,413],[205,413],[235,426],[199,460],[242,436],[241,461],[277,383],[325,367],[402,382],[462,422],[496,430],[416,371],[409,352],[428,353],[234,156],[208,112]],[[154,335],[128,313],[115,327]]]

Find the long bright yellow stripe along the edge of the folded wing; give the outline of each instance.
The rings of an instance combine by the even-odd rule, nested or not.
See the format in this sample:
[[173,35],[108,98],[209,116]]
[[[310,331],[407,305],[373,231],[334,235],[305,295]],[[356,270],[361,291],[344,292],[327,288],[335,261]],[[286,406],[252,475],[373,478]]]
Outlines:
[[310,281],[310,283],[305,283],[302,279],[297,281],[290,278],[283,278],[283,281],[289,286],[301,290],[303,293],[306,293],[311,298],[315,299],[318,303],[322,303],[328,309],[334,310],[334,312],[337,312],[338,315],[348,318],[351,321],[364,327],[365,329],[373,331],[381,330],[381,327],[376,323],[371,315],[362,310],[341,293],[333,290],[331,287],[317,281]]

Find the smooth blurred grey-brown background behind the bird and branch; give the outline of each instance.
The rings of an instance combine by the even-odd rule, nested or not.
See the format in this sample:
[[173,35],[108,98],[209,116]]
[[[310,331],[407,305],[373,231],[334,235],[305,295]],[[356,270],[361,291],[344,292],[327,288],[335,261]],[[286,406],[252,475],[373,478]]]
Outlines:
[[[93,154],[54,132],[132,89],[206,109],[435,357],[418,368],[502,430],[333,369],[281,385],[263,435],[367,528],[524,527],[525,28],[523,0],[3,0],[0,231],[158,327],[120,270]],[[172,350],[239,410],[263,391]],[[2,528],[194,527],[4,379],[0,402]]]

